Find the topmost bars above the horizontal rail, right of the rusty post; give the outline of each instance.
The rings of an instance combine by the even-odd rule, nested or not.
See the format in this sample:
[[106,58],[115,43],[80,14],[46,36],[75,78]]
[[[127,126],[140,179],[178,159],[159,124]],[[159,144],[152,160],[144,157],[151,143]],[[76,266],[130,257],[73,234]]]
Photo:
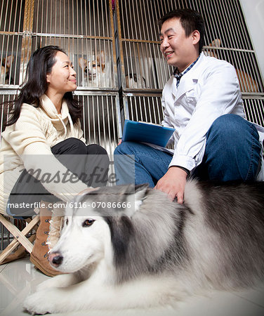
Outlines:
[[108,0],[35,0],[33,32],[112,37]]

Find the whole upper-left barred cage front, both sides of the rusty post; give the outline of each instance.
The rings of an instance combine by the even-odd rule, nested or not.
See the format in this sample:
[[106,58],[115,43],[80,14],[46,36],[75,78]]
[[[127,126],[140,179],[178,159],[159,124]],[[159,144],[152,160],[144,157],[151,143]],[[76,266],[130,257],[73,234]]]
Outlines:
[[0,27],[0,85],[22,84],[31,53],[55,44],[74,60],[79,86],[117,88],[109,0],[1,1]]

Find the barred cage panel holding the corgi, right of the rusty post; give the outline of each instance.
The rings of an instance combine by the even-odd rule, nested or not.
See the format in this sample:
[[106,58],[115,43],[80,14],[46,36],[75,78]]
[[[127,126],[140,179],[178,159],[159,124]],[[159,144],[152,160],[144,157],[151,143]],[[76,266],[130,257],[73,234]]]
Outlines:
[[34,17],[34,49],[49,44],[65,49],[79,86],[99,90],[117,86],[110,1],[36,0]]

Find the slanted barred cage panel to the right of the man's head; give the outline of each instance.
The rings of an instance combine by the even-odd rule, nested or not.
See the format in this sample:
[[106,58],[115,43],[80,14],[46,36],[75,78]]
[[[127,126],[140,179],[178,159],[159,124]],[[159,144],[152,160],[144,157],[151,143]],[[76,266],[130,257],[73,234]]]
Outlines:
[[[206,22],[205,49],[215,47],[220,59],[235,66],[241,91],[263,93],[263,82],[238,0],[190,1]],[[219,49],[220,48],[220,49]]]

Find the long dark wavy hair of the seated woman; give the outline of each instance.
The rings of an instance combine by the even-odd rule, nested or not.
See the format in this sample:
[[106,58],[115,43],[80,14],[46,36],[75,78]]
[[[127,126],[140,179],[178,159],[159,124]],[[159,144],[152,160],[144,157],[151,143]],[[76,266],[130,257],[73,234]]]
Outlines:
[[[48,90],[46,75],[51,73],[55,64],[55,55],[58,51],[65,53],[58,46],[45,46],[34,51],[27,64],[26,80],[20,89],[19,95],[13,100],[11,117],[6,126],[14,124],[20,117],[21,106],[23,103],[34,107],[41,106],[40,98]],[[81,106],[72,92],[65,93],[63,99],[67,102],[73,124],[81,117]]]

